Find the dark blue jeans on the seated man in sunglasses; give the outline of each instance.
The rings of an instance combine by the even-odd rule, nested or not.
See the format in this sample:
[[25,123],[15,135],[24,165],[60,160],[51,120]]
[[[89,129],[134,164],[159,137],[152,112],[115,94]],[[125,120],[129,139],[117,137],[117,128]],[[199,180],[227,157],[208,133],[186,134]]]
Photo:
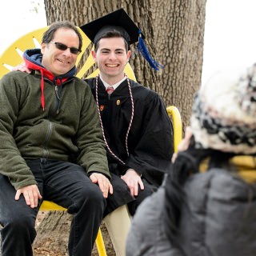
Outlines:
[[[27,161],[44,200],[58,203],[74,214],[70,227],[70,256],[91,255],[106,200],[85,170],[70,162],[41,158]],[[26,205],[23,196],[15,201],[16,190],[8,178],[0,174],[0,223],[3,226],[2,256],[33,255],[31,244],[38,208]]]

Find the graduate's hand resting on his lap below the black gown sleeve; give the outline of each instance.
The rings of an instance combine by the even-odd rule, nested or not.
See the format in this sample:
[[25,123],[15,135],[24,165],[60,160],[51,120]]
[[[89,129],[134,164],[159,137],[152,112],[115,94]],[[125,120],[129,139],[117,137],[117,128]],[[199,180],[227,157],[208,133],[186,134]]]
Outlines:
[[134,169],[127,170],[126,174],[121,176],[121,178],[124,182],[126,182],[127,186],[129,186],[130,194],[132,196],[138,196],[138,186],[141,187],[141,190],[144,190],[141,175],[138,174]]

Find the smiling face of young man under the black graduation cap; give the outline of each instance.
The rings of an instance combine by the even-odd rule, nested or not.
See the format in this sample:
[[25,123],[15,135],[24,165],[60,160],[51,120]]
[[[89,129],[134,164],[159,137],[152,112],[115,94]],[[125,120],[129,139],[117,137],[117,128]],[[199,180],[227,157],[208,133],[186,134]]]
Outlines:
[[130,54],[130,50],[126,52],[124,38],[102,38],[97,52],[92,51],[102,79],[112,84],[122,80]]

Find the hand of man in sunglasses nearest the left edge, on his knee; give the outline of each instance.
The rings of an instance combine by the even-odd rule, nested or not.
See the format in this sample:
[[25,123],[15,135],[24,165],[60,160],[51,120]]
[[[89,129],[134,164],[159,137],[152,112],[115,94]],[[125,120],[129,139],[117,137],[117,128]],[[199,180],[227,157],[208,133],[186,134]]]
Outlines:
[[37,207],[38,199],[42,198],[37,185],[23,186],[21,189],[18,189],[15,194],[15,200],[18,200],[21,194],[23,194],[26,204],[31,208]]

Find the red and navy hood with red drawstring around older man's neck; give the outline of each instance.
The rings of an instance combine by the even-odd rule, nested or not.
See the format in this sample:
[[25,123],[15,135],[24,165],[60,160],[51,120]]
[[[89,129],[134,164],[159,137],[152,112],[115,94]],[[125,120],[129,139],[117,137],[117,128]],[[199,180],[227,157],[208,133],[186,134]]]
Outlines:
[[42,109],[45,110],[45,97],[44,97],[44,78],[49,79],[50,81],[56,83],[58,86],[62,85],[63,82],[66,82],[68,78],[73,78],[76,74],[76,67],[74,66],[69,72],[66,74],[62,74],[59,76],[54,76],[49,70],[46,70],[44,66],[42,66],[42,53],[41,49],[30,49],[26,50],[23,54],[23,59],[26,63],[26,67],[30,70],[38,70],[40,71],[42,78],[41,78],[41,104]]

